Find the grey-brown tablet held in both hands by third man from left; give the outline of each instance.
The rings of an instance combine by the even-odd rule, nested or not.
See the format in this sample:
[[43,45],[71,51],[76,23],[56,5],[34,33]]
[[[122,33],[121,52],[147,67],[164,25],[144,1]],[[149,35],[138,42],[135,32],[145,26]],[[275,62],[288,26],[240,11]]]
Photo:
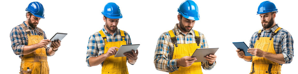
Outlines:
[[197,60],[195,62],[204,62],[207,61],[204,58],[206,55],[214,55],[218,49],[219,48],[198,48],[193,52],[192,57],[196,57]]

